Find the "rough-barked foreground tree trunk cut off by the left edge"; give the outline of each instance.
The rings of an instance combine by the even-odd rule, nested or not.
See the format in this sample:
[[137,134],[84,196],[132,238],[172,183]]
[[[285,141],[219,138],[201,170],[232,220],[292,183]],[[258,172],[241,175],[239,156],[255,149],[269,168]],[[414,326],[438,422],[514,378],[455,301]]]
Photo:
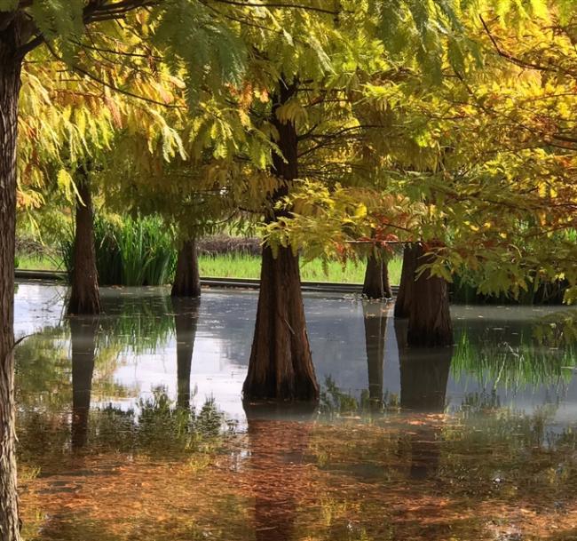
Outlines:
[[21,59],[14,21],[0,30],[0,541],[18,541],[14,405],[16,139]]

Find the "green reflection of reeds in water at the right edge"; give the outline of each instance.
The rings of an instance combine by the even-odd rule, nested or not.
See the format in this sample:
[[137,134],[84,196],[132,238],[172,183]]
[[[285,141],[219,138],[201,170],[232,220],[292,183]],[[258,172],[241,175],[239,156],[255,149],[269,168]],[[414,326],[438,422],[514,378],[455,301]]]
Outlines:
[[[457,380],[473,374],[484,385],[518,388],[526,385],[561,385],[577,367],[577,345],[551,349],[539,346],[526,334],[497,336],[487,329],[478,338],[462,329],[451,362]],[[513,342],[515,338],[515,342]]]

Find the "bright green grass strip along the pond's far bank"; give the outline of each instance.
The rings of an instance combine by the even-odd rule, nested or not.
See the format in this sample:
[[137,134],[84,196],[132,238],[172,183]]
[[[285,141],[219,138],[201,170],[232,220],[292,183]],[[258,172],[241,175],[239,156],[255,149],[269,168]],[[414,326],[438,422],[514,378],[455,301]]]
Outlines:
[[[34,270],[57,270],[64,266],[57,259],[43,257],[31,257],[19,255],[21,269]],[[389,263],[389,276],[392,284],[399,283],[400,258],[392,259]],[[216,256],[199,256],[201,276],[211,278],[254,278],[260,276],[260,258],[257,256],[220,254]],[[322,268],[320,259],[301,264],[301,278],[304,282],[344,282],[361,283],[365,276],[365,263],[355,264],[349,261],[344,267],[336,261],[328,263],[328,274]]]

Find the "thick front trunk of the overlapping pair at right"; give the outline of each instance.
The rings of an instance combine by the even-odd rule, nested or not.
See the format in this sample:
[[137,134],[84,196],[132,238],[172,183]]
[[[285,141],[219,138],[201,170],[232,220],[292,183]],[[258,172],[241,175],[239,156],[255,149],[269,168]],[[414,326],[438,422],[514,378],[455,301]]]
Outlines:
[[[417,267],[431,261],[423,255],[423,245],[416,245]],[[427,269],[414,282],[408,318],[409,346],[451,346],[453,326],[449,311],[447,282]]]

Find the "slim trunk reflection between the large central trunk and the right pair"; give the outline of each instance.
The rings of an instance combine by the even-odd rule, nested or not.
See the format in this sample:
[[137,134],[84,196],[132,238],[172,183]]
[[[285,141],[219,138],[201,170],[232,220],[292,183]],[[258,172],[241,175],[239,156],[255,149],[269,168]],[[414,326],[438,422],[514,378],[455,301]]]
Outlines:
[[368,362],[368,398],[371,409],[383,405],[383,362],[388,310],[384,304],[363,303]]

